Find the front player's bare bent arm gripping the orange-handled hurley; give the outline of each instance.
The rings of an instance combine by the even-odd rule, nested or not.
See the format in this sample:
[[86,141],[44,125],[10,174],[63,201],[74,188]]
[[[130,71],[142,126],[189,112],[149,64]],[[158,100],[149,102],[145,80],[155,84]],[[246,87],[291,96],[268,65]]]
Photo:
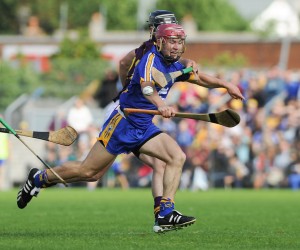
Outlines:
[[[142,92],[144,97],[154,104],[158,111],[162,114],[165,118],[170,118],[175,116],[175,109],[173,107],[168,106],[159,96],[156,88],[153,86],[152,82],[142,82],[141,83]],[[152,88],[152,92],[149,91]]]

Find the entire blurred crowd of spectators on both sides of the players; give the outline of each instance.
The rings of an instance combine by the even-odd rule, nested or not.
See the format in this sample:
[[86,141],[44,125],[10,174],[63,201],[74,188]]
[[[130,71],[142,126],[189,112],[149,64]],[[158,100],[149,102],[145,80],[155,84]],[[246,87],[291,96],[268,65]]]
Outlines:
[[[116,74],[109,70],[94,93],[95,105],[104,110],[118,92]],[[300,71],[282,71],[274,66],[209,74],[239,86],[246,101],[231,100],[223,89],[208,90],[187,83],[175,85],[167,101],[179,112],[213,113],[230,108],[239,113],[241,122],[226,128],[155,116],[157,126],[175,138],[187,155],[180,188],[300,189]],[[71,147],[47,144],[45,160],[50,165],[85,158],[101,129],[89,105],[78,99],[74,107],[49,124],[50,130],[69,124],[79,133]],[[88,188],[149,187],[151,177],[152,170],[132,154],[121,155],[105,177]]]

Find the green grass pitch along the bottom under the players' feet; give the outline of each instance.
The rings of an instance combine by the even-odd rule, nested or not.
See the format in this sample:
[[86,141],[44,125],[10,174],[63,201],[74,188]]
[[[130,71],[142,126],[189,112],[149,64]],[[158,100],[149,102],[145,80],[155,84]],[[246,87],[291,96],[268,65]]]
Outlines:
[[300,192],[179,191],[196,216],[183,230],[152,232],[148,189],[50,188],[24,210],[0,193],[0,249],[300,249]]

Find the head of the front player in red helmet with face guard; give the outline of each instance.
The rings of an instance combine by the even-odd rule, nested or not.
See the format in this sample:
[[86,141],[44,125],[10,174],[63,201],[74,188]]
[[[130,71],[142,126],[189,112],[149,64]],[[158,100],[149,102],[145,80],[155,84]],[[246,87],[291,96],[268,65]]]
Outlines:
[[[164,59],[168,63],[173,63],[179,60],[181,55],[185,51],[185,32],[182,26],[178,24],[162,24],[159,25],[157,31],[155,33],[155,38],[157,40],[157,50],[161,52]],[[172,56],[172,44],[177,44],[177,46],[181,46],[181,51],[174,51],[176,52],[177,56]]]

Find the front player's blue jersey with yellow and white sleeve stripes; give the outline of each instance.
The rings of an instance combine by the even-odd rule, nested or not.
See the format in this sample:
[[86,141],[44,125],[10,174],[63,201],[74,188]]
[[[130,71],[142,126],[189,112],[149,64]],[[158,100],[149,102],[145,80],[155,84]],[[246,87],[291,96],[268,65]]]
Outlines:
[[[152,78],[153,67],[163,73],[170,73],[184,68],[184,66],[180,62],[167,64],[160,52],[157,51],[156,47],[152,46],[152,48],[147,53],[145,53],[145,55],[141,58],[140,62],[135,67],[130,84],[128,85],[127,89],[120,95],[121,110],[124,108],[139,108],[148,110],[157,109],[154,104],[149,102],[144,97],[141,89],[142,82],[152,82],[159,96],[164,100],[166,99],[171,87],[175,82],[186,81],[189,78],[188,74],[182,75],[176,78],[174,82],[170,81],[164,88],[161,88],[160,86],[155,84]],[[126,117],[126,119],[132,125],[140,129],[146,129],[149,123],[152,122],[152,118],[153,115],[149,114],[130,114],[128,117]]]

